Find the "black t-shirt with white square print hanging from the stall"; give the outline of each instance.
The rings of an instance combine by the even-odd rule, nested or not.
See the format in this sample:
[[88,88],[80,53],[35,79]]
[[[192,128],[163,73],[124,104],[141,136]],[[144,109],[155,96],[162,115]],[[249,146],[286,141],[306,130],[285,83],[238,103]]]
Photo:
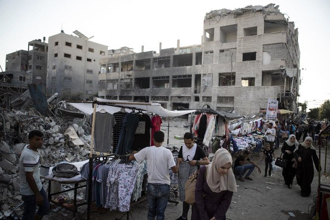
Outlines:
[[150,146],[151,120],[147,114],[138,114],[138,126],[135,130],[132,150],[140,150]]

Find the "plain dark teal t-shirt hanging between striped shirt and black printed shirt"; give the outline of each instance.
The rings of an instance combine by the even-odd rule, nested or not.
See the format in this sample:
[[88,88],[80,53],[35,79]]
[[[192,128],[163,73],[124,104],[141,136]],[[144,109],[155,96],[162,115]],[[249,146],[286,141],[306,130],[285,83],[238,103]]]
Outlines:
[[126,154],[126,151],[132,148],[134,134],[138,126],[138,118],[139,116],[135,113],[126,114],[123,120],[123,126],[120,130],[116,154]]

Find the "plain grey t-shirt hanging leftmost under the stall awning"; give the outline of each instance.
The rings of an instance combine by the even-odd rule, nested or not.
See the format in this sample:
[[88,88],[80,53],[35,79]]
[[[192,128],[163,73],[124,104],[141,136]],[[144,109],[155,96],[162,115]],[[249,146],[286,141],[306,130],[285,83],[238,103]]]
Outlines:
[[[91,124],[93,121],[93,114],[91,115]],[[112,131],[116,124],[115,117],[108,113],[96,112],[95,125],[94,125],[94,150],[98,152],[112,152],[113,140]]]

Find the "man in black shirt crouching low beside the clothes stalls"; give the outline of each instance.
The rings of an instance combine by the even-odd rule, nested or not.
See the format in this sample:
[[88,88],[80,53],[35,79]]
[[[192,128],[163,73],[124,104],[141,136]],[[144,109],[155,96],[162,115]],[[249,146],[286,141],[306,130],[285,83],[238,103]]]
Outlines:
[[[247,161],[249,161],[251,164],[245,164]],[[249,172],[245,175],[244,179],[253,180],[249,176],[253,172],[255,167],[258,168],[258,172],[260,174],[261,173],[260,168],[258,167],[258,165],[255,162],[253,162],[250,159],[250,152],[248,150],[244,150],[243,155],[237,156],[237,158],[235,160],[235,163],[234,163],[234,171],[238,172],[238,174],[239,174],[238,180],[241,181],[241,182],[244,182],[243,173],[246,170],[249,170]]]

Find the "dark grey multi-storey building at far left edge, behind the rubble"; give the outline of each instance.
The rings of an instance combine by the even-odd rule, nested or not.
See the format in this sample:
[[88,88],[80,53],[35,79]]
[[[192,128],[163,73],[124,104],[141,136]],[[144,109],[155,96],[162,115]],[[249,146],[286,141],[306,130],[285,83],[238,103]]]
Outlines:
[[6,55],[5,72],[0,73],[1,85],[14,91],[25,91],[28,84],[46,86],[48,43],[32,40],[28,51],[19,50]]

